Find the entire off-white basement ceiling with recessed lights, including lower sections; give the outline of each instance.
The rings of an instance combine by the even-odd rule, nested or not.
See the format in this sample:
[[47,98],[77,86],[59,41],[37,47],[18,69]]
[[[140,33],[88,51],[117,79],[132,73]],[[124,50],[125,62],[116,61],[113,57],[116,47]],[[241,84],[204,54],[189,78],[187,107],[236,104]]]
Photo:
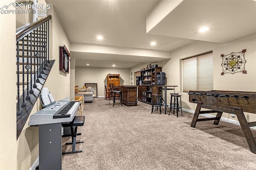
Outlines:
[[[161,0],[46,0],[54,7],[70,43],[172,51],[201,40],[226,43],[256,34],[256,1],[253,0],[176,0],[178,6]],[[152,29],[147,16],[157,16],[160,4],[173,9]],[[158,13],[155,14],[156,8]],[[156,18],[155,18],[156,19]],[[147,22],[147,23],[146,23]],[[198,33],[201,26],[208,32]],[[148,31],[148,33],[146,33]],[[102,35],[103,40],[96,36]],[[151,46],[150,42],[157,44]],[[70,50],[76,66],[130,68],[140,63],[166,61],[166,57],[146,57],[88,53]],[[113,62],[115,61],[115,62]]]

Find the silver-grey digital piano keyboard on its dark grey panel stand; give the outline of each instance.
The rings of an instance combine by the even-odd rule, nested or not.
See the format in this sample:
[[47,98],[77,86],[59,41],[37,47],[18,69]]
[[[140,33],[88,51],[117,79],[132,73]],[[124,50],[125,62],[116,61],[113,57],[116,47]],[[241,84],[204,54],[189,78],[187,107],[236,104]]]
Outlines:
[[[62,123],[72,122],[79,107],[76,102],[66,109],[70,102],[60,100],[30,116],[28,125],[38,126],[39,130],[40,170],[62,170]],[[54,119],[54,115],[64,108],[65,113]]]

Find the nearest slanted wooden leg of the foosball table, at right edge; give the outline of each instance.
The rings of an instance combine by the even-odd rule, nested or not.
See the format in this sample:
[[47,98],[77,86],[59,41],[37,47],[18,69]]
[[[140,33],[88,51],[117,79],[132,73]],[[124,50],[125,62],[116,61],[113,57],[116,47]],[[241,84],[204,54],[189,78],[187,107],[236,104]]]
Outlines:
[[242,131],[244,132],[244,136],[246,138],[246,141],[249,145],[249,148],[252,153],[256,154],[256,142],[254,139],[254,136],[252,134],[252,131],[250,129],[250,126],[248,125],[248,122],[246,121],[246,118],[244,116],[244,112],[241,108],[234,107],[237,119],[241,125]]

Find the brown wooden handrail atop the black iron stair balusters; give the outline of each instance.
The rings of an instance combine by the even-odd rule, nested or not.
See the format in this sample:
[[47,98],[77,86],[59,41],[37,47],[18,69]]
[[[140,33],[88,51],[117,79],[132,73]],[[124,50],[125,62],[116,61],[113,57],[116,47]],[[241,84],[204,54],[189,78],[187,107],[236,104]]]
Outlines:
[[18,42],[18,40],[20,40],[21,38],[23,38],[24,36],[26,36],[27,34],[29,34],[30,32],[32,32],[34,29],[36,29],[38,26],[44,24],[44,22],[50,20],[52,18],[51,15],[48,15],[44,18],[42,18],[41,20],[38,20],[37,22],[34,22],[33,24],[30,24],[28,27],[26,27],[24,30],[21,30],[19,32],[16,33],[16,42]]

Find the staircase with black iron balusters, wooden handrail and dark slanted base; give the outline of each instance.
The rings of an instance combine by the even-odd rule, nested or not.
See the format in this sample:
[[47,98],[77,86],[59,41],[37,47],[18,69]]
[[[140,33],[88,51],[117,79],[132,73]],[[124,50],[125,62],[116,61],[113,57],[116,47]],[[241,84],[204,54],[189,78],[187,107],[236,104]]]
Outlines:
[[49,60],[50,19],[46,16],[16,32],[17,139],[55,61]]

